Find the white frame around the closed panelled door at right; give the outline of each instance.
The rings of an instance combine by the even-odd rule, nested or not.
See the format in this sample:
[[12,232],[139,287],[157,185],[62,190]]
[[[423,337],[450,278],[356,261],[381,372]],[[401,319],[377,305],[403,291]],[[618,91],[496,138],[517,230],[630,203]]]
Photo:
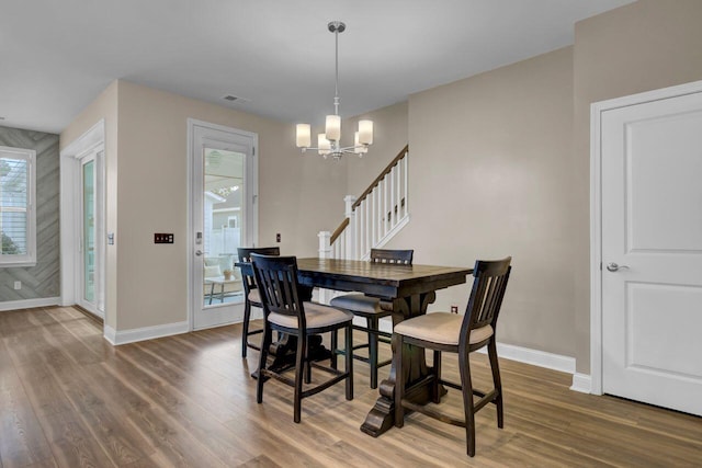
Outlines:
[[590,105],[590,393],[602,395],[602,114],[702,92],[702,81],[596,102]]

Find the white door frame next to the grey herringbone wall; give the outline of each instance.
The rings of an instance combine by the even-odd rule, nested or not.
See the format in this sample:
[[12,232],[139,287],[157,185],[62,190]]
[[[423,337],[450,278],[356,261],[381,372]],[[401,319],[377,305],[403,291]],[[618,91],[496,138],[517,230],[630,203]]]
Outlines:
[[[82,237],[81,158],[95,155],[95,315],[106,322],[105,310],[105,121],[100,119],[88,132],[60,151],[60,305],[78,304],[81,266],[78,263]],[[91,311],[93,312],[93,311]]]

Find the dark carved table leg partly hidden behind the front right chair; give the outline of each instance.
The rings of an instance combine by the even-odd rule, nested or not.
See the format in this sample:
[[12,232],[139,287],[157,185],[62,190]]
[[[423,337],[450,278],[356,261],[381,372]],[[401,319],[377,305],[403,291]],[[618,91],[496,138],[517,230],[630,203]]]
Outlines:
[[[437,299],[434,292],[418,294],[410,297],[393,300],[393,327],[405,319],[427,313],[427,307]],[[393,340],[393,351],[395,340]],[[361,425],[361,431],[377,437],[395,425],[395,380],[401,378],[405,384],[418,381],[429,375],[424,350],[418,346],[405,345],[403,350],[403,361],[407,363],[407,374],[398,377],[396,375],[395,361],[390,364],[390,374],[387,379],[381,381],[378,391],[381,397],[365,416],[365,422]],[[423,404],[431,401],[431,388],[423,387],[414,393],[412,400]]]

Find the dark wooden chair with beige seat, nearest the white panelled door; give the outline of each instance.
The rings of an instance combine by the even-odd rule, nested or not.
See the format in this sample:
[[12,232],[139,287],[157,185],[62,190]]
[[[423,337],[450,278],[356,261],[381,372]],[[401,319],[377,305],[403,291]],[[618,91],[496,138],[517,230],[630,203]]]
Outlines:
[[[417,411],[449,424],[465,427],[468,456],[475,456],[475,413],[487,403],[497,407],[497,426],[503,425],[502,384],[497,362],[495,333],[505,289],[511,271],[511,256],[498,261],[477,261],[473,275],[473,288],[464,316],[449,312],[433,312],[401,321],[394,329],[395,378],[395,425],[405,423],[405,409]],[[443,414],[433,408],[427,408],[411,401],[412,390],[421,383],[410,383],[405,388],[410,369],[405,367],[403,349],[406,345],[419,346],[433,351],[433,368],[428,378],[431,385],[432,402],[441,399],[441,385],[462,390],[464,419]],[[468,354],[487,346],[492,385],[490,391],[473,387]],[[441,377],[441,353],[450,352],[458,355],[461,384],[443,380]],[[409,379],[411,380],[411,378]],[[414,386],[412,386],[414,384]],[[474,401],[473,396],[478,400]]]

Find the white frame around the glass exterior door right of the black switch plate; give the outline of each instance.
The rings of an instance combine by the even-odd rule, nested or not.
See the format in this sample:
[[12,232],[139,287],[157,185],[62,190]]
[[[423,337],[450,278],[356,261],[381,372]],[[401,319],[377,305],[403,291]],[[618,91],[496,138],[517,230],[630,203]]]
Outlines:
[[[227,127],[224,125],[213,124],[210,122],[199,121],[195,118],[188,118],[188,238],[186,238],[186,252],[188,252],[188,323],[189,330],[195,330],[195,308],[201,307],[202,304],[196,301],[195,299],[200,294],[195,290],[195,276],[196,273],[194,271],[194,251],[195,247],[195,232],[193,229],[194,221],[194,206],[192,203],[193,193],[195,190],[195,145],[197,144],[195,138],[195,128],[202,127],[206,129],[217,130],[217,132],[226,132],[235,135],[240,135],[245,138],[251,139],[251,161],[247,161],[246,163],[246,183],[245,183],[245,193],[242,194],[242,199],[247,205],[247,210],[251,213],[251,222],[247,222],[247,231],[246,238],[251,239],[252,243],[256,246],[258,243],[259,238],[259,206],[258,206],[258,193],[259,193],[259,158],[258,158],[258,146],[259,146],[259,136],[252,132],[246,132],[241,129],[237,129],[234,127]],[[202,274],[202,273],[201,273]],[[200,286],[200,290],[202,290],[202,285]]]

